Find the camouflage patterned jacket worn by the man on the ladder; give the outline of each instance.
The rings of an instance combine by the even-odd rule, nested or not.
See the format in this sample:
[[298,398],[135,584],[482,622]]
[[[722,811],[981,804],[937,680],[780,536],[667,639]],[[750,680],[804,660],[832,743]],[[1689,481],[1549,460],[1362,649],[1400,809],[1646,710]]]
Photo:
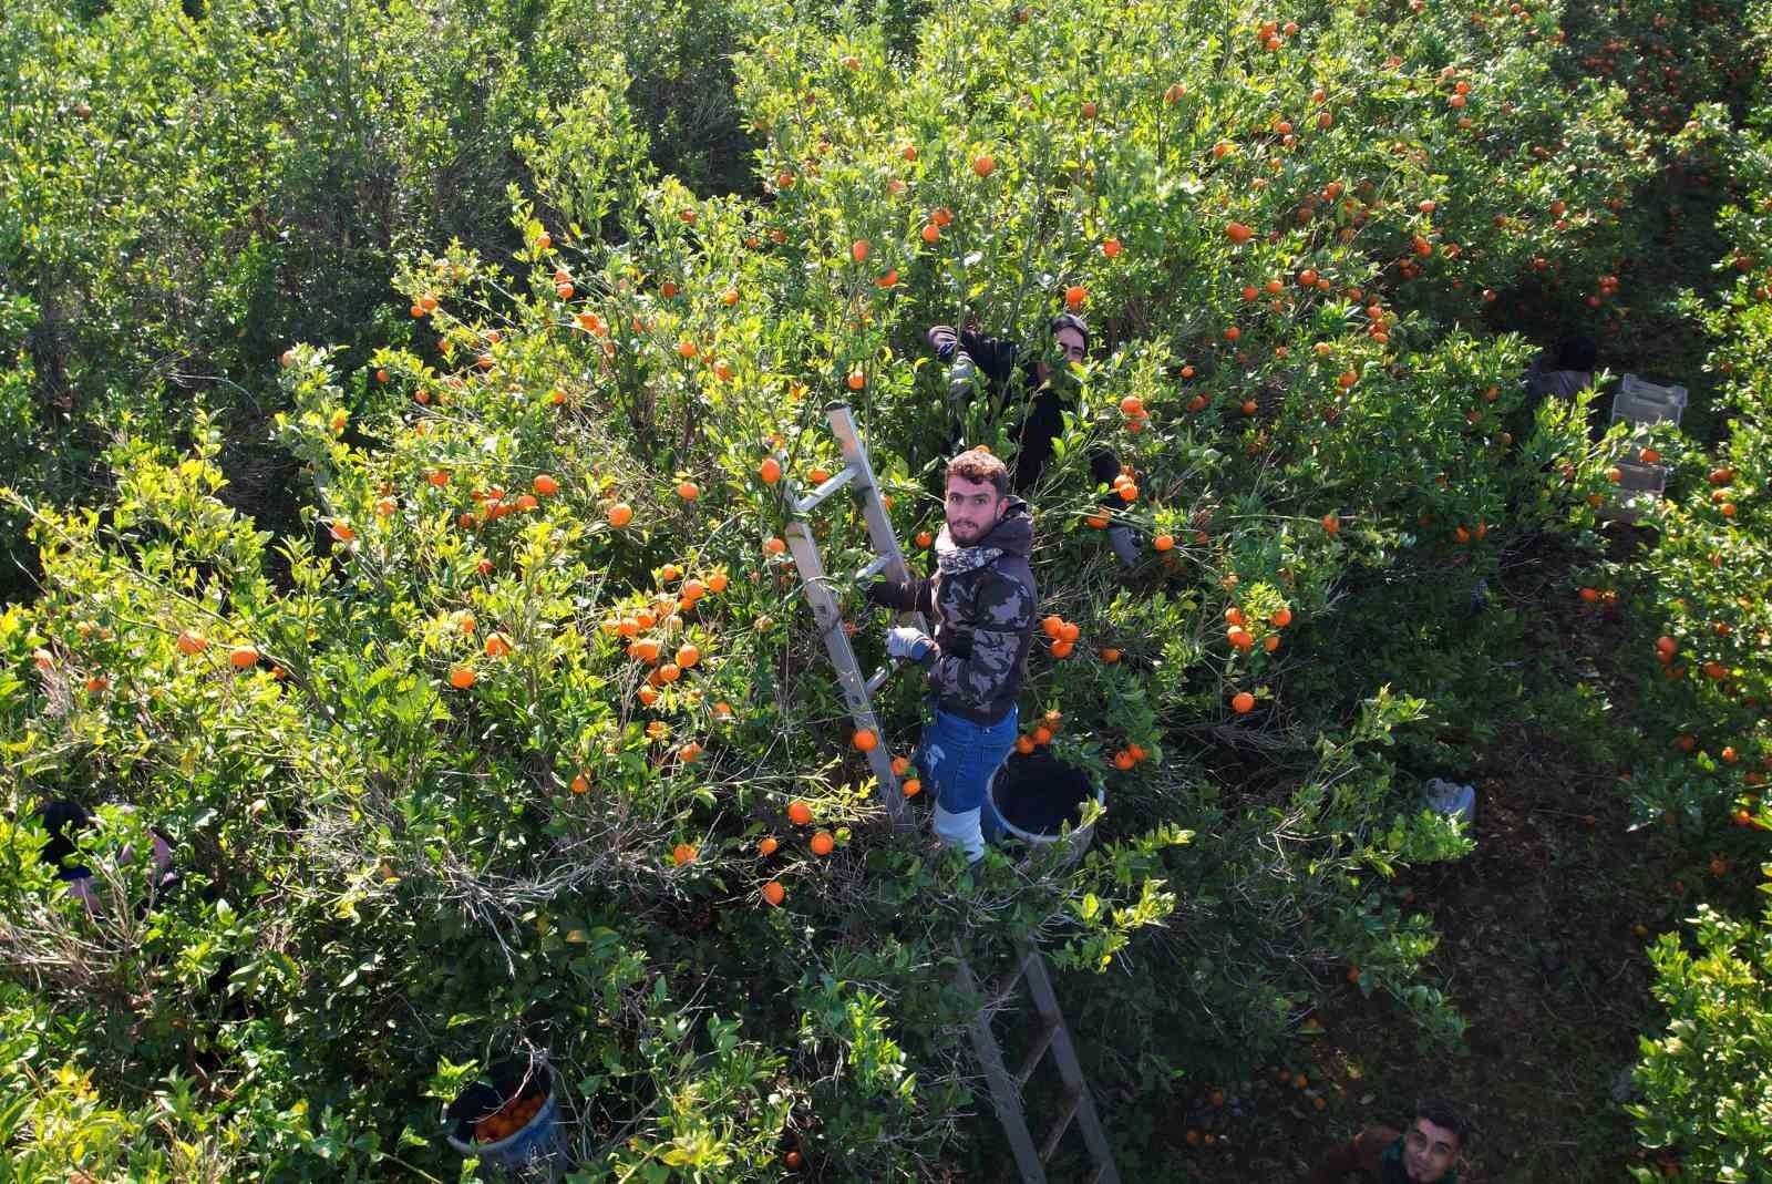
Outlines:
[[936,645],[921,665],[936,704],[948,714],[991,725],[1015,704],[1038,604],[1031,549],[1033,510],[1010,498],[1001,521],[976,546],[955,546],[941,528],[934,576],[886,585],[888,604],[936,619]]

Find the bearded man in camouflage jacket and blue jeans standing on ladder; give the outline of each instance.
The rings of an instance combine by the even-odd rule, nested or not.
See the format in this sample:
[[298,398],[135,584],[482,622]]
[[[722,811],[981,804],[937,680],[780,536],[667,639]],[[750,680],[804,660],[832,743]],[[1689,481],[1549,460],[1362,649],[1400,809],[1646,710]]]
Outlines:
[[936,636],[893,627],[886,652],[923,668],[936,714],[914,760],[936,787],[936,837],[969,860],[983,856],[985,838],[1001,830],[985,789],[1015,746],[1015,695],[1038,604],[1028,565],[1033,510],[1008,484],[1008,468],[982,448],[948,461],[936,574],[867,588],[874,604],[936,622]]

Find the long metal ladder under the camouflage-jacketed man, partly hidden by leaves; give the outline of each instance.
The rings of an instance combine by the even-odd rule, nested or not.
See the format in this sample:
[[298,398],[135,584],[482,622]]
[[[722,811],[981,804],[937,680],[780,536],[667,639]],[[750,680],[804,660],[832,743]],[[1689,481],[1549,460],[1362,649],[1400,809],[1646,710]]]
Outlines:
[[[817,542],[812,539],[812,528],[808,526],[806,516],[838,491],[854,487],[854,491],[861,496],[861,510],[868,526],[868,542],[875,553],[875,558],[861,567],[854,574],[854,580],[858,583],[875,576],[909,580],[911,569],[905,565],[904,553],[898,549],[898,539],[893,535],[891,519],[886,516],[886,503],[881,500],[879,482],[875,480],[874,468],[868,463],[868,450],[861,443],[861,432],[856,431],[856,420],[849,404],[831,402],[824,408],[824,415],[831,424],[831,434],[836,438],[838,450],[842,452],[843,468],[804,496],[794,496],[794,487],[789,486],[787,503],[792,510],[792,521],[785,532],[787,546],[794,557],[794,567],[799,571],[801,588],[806,594],[806,601],[812,604],[819,635],[824,638],[824,649],[831,656],[831,665],[836,668],[836,679],[843,689],[843,700],[849,705],[849,714],[854,718],[858,728],[868,728],[874,736],[881,737],[881,743],[868,750],[867,759],[868,767],[874,771],[874,780],[886,798],[886,812],[891,815],[891,824],[898,831],[911,831],[916,826],[911,814],[911,803],[904,792],[895,792],[900,791],[900,780],[891,771],[891,746],[884,743],[879,716],[874,714],[874,695],[893,675],[893,670],[904,663],[898,659],[888,659],[888,665],[881,666],[872,675],[861,675],[861,665],[856,661],[856,650],[849,643],[849,635],[843,631],[842,606],[838,604],[836,594],[831,588],[831,580],[824,571],[824,560],[819,555]],[[902,613],[900,619],[914,620],[920,629],[925,633],[929,631],[929,622],[921,613]],[[964,952],[959,954],[959,971],[955,973],[955,978],[968,994],[980,1000],[978,1016],[971,1024],[968,1024],[968,1030],[973,1053],[978,1056],[978,1063],[985,1071],[985,1083],[991,1087],[991,1102],[996,1110],[998,1122],[1003,1124],[1003,1133],[1008,1136],[1010,1149],[1015,1154],[1015,1166],[1021,1170],[1022,1184],[1045,1184],[1045,1163],[1053,1157],[1053,1152],[1058,1150],[1058,1143],[1063,1140],[1072,1120],[1077,1122],[1077,1129],[1083,1133],[1083,1141],[1088,1147],[1090,1159],[1095,1165],[1095,1173],[1090,1180],[1093,1180],[1093,1184],[1120,1184],[1120,1172],[1115,1168],[1113,1154],[1108,1149],[1108,1136],[1102,1133],[1100,1117],[1095,1111],[1095,1097],[1090,1094],[1088,1081],[1083,1078],[1083,1065],[1077,1062],[1077,1049],[1070,1040],[1070,1028],[1065,1024],[1065,1017],[1058,1010],[1058,996],[1053,993],[1053,980],[1047,975],[1045,959],[1040,952],[1033,946],[1022,946],[1017,955],[1015,968],[989,994],[978,989],[978,978],[973,973],[971,964],[966,961]],[[998,1044],[996,1033],[992,1032],[992,1016],[1024,980],[1028,984],[1028,994],[1033,998],[1035,1012],[1038,1014],[1038,1028],[1035,1030],[1033,1048],[1028,1053],[1028,1060],[1014,1076],[1010,1076],[1008,1067],[1003,1062],[1003,1046]],[[1045,1143],[1037,1149],[1033,1145],[1033,1134],[1028,1129],[1028,1118],[1022,1106],[1022,1088],[1028,1085],[1028,1078],[1031,1078],[1033,1071],[1038,1069],[1047,1051],[1051,1051],[1056,1060],[1058,1076],[1065,1087],[1065,1102],[1063,1113],[1045,1136]]]

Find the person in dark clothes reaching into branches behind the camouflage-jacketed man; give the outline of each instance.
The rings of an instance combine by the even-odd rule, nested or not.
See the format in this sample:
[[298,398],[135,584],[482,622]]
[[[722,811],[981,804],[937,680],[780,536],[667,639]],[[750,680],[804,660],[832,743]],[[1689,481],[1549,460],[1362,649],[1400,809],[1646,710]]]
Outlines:
[[[1053,317],[1047,330],[1053,351],[1063,354],[1067,365],[1088,356],[1090,326],[1083,317],[1067,312]],[[959,406],[971,399],[982,378],[985,390],[999,397],[1006,409],[1014,409],[1010,438],[1015,441],[1015,459],[1010,466],[1010,484],[1017,495],[1026,495],[1051,463],[1053,441],[1065,431],[1065,399],[1053,385],[1053,363],[1035,351],[1022,351],[1014,342],[983,337],[973,330],[957,331],[948,324],[932,326],[927,339],[936,356],[948,363],[950,402]],[[1120,459],[1113,450],[1093,448],[1088,459],[1090,477],[1097,484],[1111,486],[1120,473]],[[1118,495],[1111,491],[1102,502],[1122,505]],[[1138,544],[1125,526],[1109,526],[1108,544],[1127,567],[1138,562]]]

